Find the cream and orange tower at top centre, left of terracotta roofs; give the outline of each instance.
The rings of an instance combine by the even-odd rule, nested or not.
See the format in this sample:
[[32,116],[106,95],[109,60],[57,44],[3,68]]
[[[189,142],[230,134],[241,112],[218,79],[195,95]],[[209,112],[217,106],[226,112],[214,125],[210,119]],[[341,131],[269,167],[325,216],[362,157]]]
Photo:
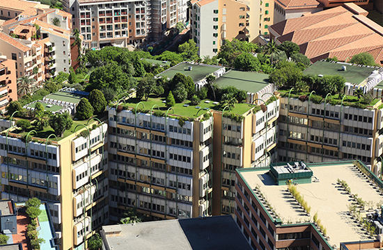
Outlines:
[[225,40],[254,42],[268,35],[273,24],[272,1],[194,0],[190,8],[190,35],[199,56],[215,56]]

